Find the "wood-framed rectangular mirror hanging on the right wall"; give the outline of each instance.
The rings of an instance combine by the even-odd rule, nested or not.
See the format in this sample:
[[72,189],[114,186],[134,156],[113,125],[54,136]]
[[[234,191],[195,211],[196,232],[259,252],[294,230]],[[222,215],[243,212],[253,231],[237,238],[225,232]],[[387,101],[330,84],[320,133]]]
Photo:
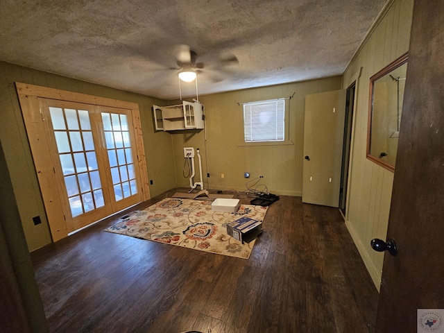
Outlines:
[[408,53],[370,78],[367,158],[395,171]]

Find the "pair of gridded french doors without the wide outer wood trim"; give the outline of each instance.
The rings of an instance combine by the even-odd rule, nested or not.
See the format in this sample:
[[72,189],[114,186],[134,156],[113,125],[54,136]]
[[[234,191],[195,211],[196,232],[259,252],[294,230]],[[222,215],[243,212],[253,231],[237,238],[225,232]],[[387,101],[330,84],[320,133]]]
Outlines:
[[39,102],[68,232],[142,201],[130,110]]

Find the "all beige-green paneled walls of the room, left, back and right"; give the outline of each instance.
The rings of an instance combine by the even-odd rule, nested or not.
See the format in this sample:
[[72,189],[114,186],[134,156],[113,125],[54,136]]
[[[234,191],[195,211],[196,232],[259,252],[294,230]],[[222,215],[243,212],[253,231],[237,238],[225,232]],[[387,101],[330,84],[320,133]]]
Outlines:
[[[264,176],[268,191],[281,195],[302,194],[302,148],[305,96],[348,87],[361,71],[357,85],[350,187],[346,224],[377,288],[383,254],[370,249],[370,239],[385,239],[393,185],[393,173],[366,160],[368,81],[370,76],[408,50],[413,0],[395,0],[375,30],[340,76],[200,96],[205,105],[207,128],[166,133],[153,130],[151,106],[165,102],[147,96],[85,83],[0,62],[0,142],[14,189],[29,250],[51,242],[40,189],[35,176],[26,130],[15,92],[15,82],[42,85],[139,103],[151,196],[175,186],[189,185],[182,176],[183,147],[200,148],[205,187],[246,189],[244,172]],[[284,145],[242,144],[242,107],[237,102],[294,96],[289,108],[289,142]],[[205,140],[206,137],[206,140]],[[197,166],[197,164],[196,164]],[[206,178],[206,173],[210,178]],[[224,173],[225,178],[221,178]],[[4,175],[2,175],[4,177]],[[251,179],[250,178],[250,179]],[[33,225],[40,215],[42,224]],[[20,221],[17,221],[20,223]]]

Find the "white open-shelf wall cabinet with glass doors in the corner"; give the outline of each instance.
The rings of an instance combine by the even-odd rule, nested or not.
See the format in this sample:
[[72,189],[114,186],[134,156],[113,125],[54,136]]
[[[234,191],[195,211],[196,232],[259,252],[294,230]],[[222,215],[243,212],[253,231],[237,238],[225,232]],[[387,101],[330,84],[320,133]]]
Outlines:
[[183,101],[179,105],[153,105],[155,130],[200,130],[204,127],[203,105]]

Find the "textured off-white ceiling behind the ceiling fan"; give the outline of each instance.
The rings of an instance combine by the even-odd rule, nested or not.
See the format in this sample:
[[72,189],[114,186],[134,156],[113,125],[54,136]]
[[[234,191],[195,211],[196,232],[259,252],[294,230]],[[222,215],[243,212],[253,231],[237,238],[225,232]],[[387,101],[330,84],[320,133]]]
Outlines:
[[177,99],[185,44],[199,94],[275,85],[342,74],[385,2],[1,0],[0,60]]

